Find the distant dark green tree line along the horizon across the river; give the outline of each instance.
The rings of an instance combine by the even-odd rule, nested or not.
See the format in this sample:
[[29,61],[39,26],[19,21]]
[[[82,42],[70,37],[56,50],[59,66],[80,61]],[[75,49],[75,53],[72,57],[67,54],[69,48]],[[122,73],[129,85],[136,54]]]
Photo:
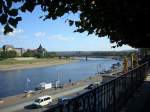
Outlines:
[[[131,54],[136,53],[136,51],[100,51],[100,52],[91,52],[91,53],[86,53],[86,52],[80,52],[80,55],[72,53],[69,55],[63,56],[63,53],[58,55],[56,52],[47,52],[45,51],[44,53],[41,51],[34,52],[32,50],[27,50],[22,54],[21,57],[36,57],[36,58],[53,58],[53,57],[66,57],[69,58],[71,56],[82,56],[82,55],[87,55],[87,56],[120,56],[120,57],[130,57]],[[17,52],[15,50],[11,51],[1,51],[0,52],[0,58],[1,59],[6,59],[6,58],[14,58],[18,57]]]

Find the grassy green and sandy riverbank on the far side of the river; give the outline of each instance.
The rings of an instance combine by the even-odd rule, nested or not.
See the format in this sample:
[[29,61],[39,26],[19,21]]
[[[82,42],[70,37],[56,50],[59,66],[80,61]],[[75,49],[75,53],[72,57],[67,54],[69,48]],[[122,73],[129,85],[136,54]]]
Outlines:
[[74,60],[71,59],[32,59],[32,60],[16,60],[7,59],[0,61],[0,71],[9,71],[17,69],[29,69],[29,68],[40,68],[46,66],[55,66],[60,64],[71,63]]

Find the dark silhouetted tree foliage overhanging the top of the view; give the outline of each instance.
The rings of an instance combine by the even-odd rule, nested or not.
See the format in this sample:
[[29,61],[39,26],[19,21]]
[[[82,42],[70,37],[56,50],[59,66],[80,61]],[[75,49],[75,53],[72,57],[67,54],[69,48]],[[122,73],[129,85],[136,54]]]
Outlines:
[[[18,8],[14,8],[12,4],[17,3]],[[19,13],[32,12],[36,6],[45,12],[43,20],[79,13],[79,20],[68,20],[69,25],[77,27],[75,32],[108,36],[117,46],[143,47],[150,38],[149,3],[132,0],[1,0],[0,23],[4,34],[17,27],[22,20]]]

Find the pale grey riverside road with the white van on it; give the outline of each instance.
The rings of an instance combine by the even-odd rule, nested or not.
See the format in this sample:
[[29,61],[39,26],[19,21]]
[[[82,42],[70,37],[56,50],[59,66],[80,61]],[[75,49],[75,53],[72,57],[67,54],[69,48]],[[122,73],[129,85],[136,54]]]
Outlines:
[[32,104],[32,101],[35,98],[39,96],[43,96],[43,95],[51,95],[54,100],[54,103],[56,103],[56,99],[58,97],[75,94],[80,91],[83,92],[85,87],[87,87],[89,84],[100,79],[101,79],[100,76],[95,76],[94,78],[89,78],[86,80],[79,81],[76,84],[70,85],[68,87],[64,87],[63,89],[58,89],[58,90],[53,89],[51,91],[49,90],[49,91],[42,92],[40,94],[33,95],[31,98],[20,97],[22,99],[19,99],[19,97],[18,98],[14,97],[16,101],[14,100],[14,102],[11,102],[10,104],[8,102],[5,105],[0,105],[0,112],[41,112],[43,110],[46,110],[47,107],[39,108],[39,109],[28,108],[30,107],[30,105]]

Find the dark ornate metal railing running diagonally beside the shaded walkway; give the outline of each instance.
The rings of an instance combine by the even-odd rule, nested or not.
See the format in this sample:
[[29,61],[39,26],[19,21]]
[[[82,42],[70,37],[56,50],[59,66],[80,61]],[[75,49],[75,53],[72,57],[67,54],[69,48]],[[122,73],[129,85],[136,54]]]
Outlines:
[[57,104],[45,112],[119,112],[144,82],[149,65],[149,61],[144,61],[127,73],[74,97],[67,104]]

